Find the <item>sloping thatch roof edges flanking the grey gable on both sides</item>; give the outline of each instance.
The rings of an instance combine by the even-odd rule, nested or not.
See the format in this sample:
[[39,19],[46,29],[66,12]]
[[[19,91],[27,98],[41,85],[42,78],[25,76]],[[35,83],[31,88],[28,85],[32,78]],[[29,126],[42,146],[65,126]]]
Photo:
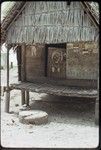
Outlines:
[[[1,44],[5,42],[6,31],[9,25],[12,23],[15,17],[23,10],[26,2],[24,1],[14,1],[9,2],[9,6],[5,7],[4,15],[1,20]],[[91,19],[98,26],[99,25],[99,15],[98,12],[92,7],[89,2],[81,2],[85,11],[90,15]]]

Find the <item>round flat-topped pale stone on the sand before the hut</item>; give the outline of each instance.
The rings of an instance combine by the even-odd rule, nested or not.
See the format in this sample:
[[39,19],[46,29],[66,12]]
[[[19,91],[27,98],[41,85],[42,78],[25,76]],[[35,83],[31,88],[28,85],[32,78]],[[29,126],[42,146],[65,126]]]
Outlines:
[[41,110],[29,110],[19,112],[19,121],[25,124],[45,124],[48,122],[48,114]]

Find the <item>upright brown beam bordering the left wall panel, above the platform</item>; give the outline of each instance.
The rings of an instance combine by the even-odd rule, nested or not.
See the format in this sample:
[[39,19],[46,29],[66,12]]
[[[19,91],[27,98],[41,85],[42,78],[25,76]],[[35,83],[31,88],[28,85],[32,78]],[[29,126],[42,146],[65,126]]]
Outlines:
[[26,46],[25,44],[21,47],[21,81],[26,80],[26,69],[25,69],[25,63],[26,63]]

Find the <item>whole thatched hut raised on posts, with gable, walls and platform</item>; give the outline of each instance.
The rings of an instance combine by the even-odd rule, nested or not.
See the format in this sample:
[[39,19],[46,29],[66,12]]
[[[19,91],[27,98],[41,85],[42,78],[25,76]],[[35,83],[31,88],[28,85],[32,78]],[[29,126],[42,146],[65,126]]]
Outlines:
[[9,88],[8,79],[6,111],[14,88],[27,104],[29,91],[97,97],[99,18],[89,2],[16,2],[1,28],[8,55],[17,50],[21,81]]

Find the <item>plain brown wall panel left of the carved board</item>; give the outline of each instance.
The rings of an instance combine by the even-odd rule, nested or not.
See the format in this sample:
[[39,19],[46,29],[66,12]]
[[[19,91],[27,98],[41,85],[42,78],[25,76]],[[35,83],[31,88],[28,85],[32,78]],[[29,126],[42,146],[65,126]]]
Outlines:
[[25,72],[26,80],[33,81],[34,78],[45,75],[45,49],[44,45],[26,46],[25,51]]

